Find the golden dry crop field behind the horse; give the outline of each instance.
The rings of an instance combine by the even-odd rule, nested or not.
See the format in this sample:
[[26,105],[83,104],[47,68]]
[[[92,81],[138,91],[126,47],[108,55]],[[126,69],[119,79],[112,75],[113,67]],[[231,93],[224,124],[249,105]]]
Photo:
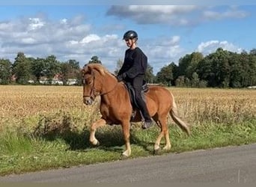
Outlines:
[[[169,90],[174,93],[180,116],[189,123],[233,123],[256,117],[255,90]],[[78,120],[82,117],[83,125],[90,125],[91,120],[99,117],[97,104],[86,106],[82,103],[82,87],[0,86],[0,93],[0,128],[24,125],[24,121],[32,116],[48,116],[59,111],[68,112]]]

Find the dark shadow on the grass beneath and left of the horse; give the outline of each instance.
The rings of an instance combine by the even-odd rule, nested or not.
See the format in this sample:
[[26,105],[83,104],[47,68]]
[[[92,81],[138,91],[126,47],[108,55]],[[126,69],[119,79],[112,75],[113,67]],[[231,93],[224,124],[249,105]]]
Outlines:
[[[131,144],[136,144],[146,151],[151,151],[148,147],[153,147],[153,143],[141,141],[136,130],[131,130]],[[141,129],[142,131],[142,129]],[[68,114],[61,114],[54,117],[42,117],[33,132],[34,138],[43,138],[46,141],[64,140],[68,144],[68,150],[88,150],[93,148],[91,145],[90,129],[85,126],[84,129],[78,129],[73,124],[72,117]],[[124,137],[121,126],[105,126],[97,129],[96,138],[100,141],[97,149],[106,151],[121,152],[124,150]]]

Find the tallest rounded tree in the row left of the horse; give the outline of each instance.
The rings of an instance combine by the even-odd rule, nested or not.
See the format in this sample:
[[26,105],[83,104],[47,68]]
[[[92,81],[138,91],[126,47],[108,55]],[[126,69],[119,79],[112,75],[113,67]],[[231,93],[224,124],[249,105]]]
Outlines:
[[31,62],[25,57],[23,52],[18,52],[13,63],[13,75],[19,84],[27,84],[31,77]]

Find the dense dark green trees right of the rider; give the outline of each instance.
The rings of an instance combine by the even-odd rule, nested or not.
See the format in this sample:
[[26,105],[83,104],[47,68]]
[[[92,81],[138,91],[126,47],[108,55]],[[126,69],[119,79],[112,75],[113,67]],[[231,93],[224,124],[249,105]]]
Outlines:
[[180,58],[178,65],[162,67],[156,76],[147,70],[147,82],[194,88],[246,88],[256,85],[256,49],[249,53],[222,48],[209,55],[192,52]]

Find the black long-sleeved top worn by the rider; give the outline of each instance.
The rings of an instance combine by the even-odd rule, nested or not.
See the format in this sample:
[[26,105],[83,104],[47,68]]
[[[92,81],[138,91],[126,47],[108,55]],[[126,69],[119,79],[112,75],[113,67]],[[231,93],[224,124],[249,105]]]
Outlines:
[[136,47],[127,49],[124,56],[124,64],[118,72],[118,76],[125,74],[125,79],[133,79],[138,75],[144,76],[147,70],[147,56]]

